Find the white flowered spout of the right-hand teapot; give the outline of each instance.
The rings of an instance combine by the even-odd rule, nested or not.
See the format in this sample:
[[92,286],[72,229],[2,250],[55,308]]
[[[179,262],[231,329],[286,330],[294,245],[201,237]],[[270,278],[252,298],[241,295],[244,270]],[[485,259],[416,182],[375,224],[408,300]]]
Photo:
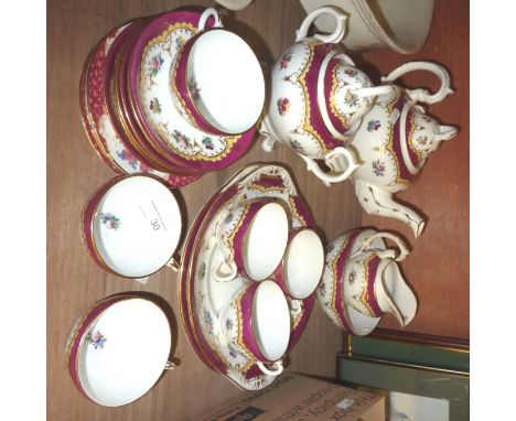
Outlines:
[[390,192],[359,180],[355,180],[354,185],[358,202],[369,215],[399,219],[410,226],[415,237],[421,235],[424,228],[423,218],[411,208],[397,203]]

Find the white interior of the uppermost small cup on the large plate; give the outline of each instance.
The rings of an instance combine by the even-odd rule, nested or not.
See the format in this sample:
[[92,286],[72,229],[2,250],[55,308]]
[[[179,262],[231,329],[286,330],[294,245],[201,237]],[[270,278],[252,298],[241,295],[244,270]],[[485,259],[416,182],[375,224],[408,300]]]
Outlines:
[[249,278],[261,281],[275,271],[283,257],[288,236],[289,220],[283,207],[278,203],[261,206],[244,240],[244,269]]

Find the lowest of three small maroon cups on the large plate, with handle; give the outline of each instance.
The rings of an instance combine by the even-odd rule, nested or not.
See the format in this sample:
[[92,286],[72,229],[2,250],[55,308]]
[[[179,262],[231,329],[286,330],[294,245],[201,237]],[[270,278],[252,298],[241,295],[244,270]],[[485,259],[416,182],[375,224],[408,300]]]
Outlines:
[[251,282],[222,309],[219,321],[225,341],[255,359],[265,374],[281,374],[290,341],[290,311],[276,282]]

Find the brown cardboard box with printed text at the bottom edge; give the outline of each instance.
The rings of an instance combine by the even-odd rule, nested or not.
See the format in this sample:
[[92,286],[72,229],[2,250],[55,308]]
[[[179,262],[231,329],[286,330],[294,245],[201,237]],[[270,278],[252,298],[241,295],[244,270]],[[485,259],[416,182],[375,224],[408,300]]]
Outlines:
[[385,397],[284,373],[268,388],[200,417],[204,421],[385,421]]

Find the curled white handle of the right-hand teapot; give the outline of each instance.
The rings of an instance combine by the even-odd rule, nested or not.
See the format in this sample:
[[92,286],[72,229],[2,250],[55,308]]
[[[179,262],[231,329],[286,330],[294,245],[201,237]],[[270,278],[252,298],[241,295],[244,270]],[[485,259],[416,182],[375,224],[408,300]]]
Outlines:
[[381,82],[394,82],[401,75],[415,71],[428,71],[439,77],[441,87],[436,94],[431,94],[428,89],[406,89],[407,95],[415,102],[436,104],[442,101],[448,95],[453,94],[450,85],[450,74],[447,69],[437,63],[431,62],[409,62],[390,72],[387,76],[381,77]]

